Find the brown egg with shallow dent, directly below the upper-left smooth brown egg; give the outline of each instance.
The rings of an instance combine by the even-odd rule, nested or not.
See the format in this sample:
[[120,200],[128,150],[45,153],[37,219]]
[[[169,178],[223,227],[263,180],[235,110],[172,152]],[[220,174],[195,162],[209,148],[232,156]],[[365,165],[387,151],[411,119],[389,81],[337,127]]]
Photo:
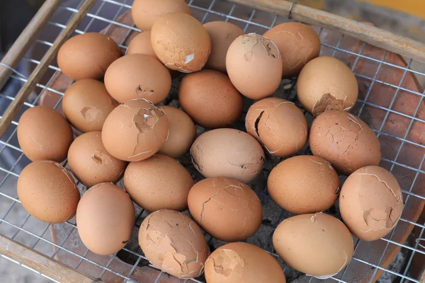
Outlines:
[[100,131],[106,117],[117,106],[105,85],[94,79],[72,83],[62,100],[64,115],[81,132]]

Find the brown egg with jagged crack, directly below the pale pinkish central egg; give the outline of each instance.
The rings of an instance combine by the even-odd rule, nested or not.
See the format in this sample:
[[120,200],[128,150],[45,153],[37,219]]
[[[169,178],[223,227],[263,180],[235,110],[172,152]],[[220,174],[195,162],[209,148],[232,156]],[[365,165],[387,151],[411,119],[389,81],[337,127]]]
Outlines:
[[196,183],[188,195],[193,219],[221,241],[242,241],[259,229],[263,208],[254,190],[229,178],[207,178]]

